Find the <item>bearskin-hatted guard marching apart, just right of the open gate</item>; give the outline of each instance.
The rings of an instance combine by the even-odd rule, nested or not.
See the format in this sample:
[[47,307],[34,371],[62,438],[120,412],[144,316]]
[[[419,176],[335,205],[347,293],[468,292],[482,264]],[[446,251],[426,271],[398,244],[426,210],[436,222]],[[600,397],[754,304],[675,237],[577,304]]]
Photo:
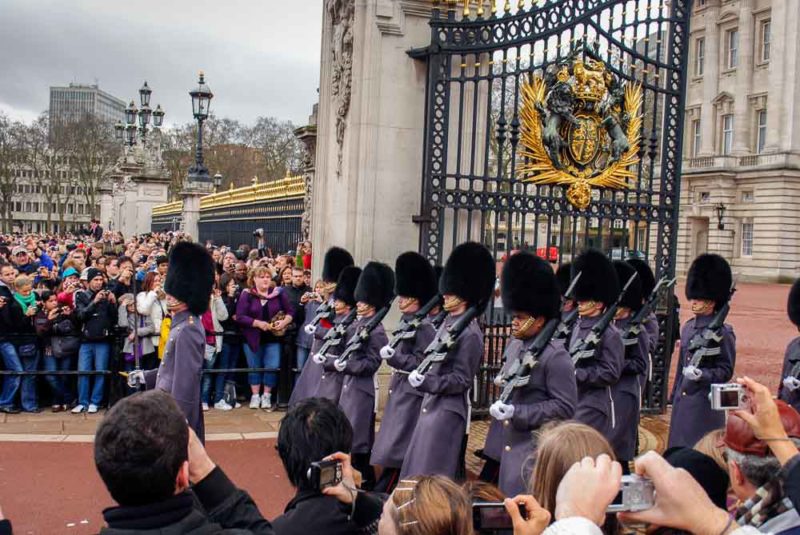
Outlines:
[[[714,315],[730,300],[733,274],[727,260],[716,254],[702,254],[689,267],[686,298],[694,318],[681,330],[680,358],[672,392],[672,418],[669,445],[693,446],[703,435],[725,426],[725,413],[711,408],[708,398],[713,383],[727,383],[736,364],[736,337],[733,328],[724,324],[718,333],[719,343],[699,365],[691,364],[689,346],[702,335]],[[716,349],[719,348],[717,352]]]

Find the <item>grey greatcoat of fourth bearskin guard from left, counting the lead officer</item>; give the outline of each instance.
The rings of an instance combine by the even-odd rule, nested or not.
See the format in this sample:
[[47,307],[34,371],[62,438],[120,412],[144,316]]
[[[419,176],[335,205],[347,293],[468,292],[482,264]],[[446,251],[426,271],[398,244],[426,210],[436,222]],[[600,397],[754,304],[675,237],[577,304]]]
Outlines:
[[[369,320],[359,318],[354,321],[354,332]],[[388,342],[383,325],[378,325],[361,347],[350,355],[341,372],[344,380],[339,407],[353,426],[352,453],[369,453],[372,449],[375,439],[375,373],[381,367],[381,348]]]

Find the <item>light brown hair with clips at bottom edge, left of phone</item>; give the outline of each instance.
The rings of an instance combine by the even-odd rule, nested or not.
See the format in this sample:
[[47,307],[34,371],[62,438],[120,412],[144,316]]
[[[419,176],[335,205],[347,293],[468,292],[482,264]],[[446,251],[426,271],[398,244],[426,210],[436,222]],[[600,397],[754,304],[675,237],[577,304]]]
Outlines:
[[389,497],[398,535],[472,535],[467,493],[442,476],[402,479]]

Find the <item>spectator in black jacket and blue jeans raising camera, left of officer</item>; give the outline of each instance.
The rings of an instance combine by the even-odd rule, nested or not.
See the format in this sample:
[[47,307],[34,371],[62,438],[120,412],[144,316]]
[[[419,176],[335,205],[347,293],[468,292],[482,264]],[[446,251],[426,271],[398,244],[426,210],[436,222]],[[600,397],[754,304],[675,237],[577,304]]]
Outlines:
[[[88,289],[75,296],[75,308],[78,319],[83,324],[83,340],[78,353],[78,371],[108,371],[111,343],[108,334],[117,324],[117,299],[105,286],[103,274],[89,268],[86,274]],[[105,377],[94,377],[94,385],[89,392],[90,377],[78,377],[78,404],[72,409],[73,414],[88,411],[97,412],[103,402]]]

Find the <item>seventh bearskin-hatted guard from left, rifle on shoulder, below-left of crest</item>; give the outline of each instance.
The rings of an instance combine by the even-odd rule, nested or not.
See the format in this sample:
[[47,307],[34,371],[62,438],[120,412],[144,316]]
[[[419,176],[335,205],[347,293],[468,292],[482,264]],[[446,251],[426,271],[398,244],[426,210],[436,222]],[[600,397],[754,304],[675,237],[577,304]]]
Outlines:
[[[503,267],[503,306],[511,314],[512,339],[506,346],[502,374],[522,366],[539,332],[560,321],[559,286],[550,264],[530,253],[512,256]],[[564,344],[551,339],[536,357],[528,383],[514,389],[506,403],[496,401],[489,413],[502,423],[499,487],[506,496],[524,494],[525,462],[535,449],[533,434],[543,424],[569,420],[578,390],[575,368]]]

